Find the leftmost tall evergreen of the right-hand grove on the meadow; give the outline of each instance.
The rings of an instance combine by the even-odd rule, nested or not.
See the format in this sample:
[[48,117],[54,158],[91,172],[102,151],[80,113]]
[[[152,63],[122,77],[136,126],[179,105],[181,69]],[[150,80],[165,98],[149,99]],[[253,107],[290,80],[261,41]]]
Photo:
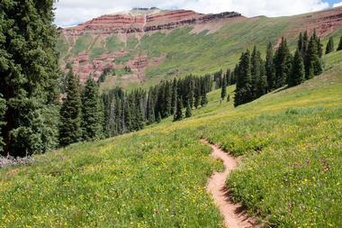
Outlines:
[[237,68],[237,89],[234,105],[246,104],[253,100],[252,78],[250,71],[250,52],[242,53]]

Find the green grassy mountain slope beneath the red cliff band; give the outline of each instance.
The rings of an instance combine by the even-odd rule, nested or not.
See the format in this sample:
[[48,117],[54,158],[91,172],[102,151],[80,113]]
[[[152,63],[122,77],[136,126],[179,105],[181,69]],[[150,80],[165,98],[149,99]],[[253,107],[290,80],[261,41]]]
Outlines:
[[[202,75],[212,73],[220,68],[234,68],[240,53],[247,48],[252,49],[257,43],[259,50],[265,54],[269,41],[276,44],[284,36],[294,48],[299,32],[306,29],[306,14],[290,17],[267,18],[260,16],[237,21],[228,21],[219,30],[196,32],[192,26],[177,28],[171,32],[146,33],[142,38],[135,34],[127,37],[112,35],[108,38],[85,34],[76,41],[68,41],[60,37],[58,50],[61,58],[75,57],[79,52],[89,53],[91,59],[99,57],[104,51],[127,50],[128,54],[115,62],[122,65],[138,54],[147,54],[148,59],[161,58],[157,65],[148,66],[144,72],[142,85],[121,76],[107,77],[103,87],[150,87],[161,79],[172,79],[186,74]],[[299,24],[302,24],[299,27]],[[341,28],[329,34],[338,43],[342,34]],[[326,43],[328,37],[323,37]],[[68,43],[71,50],[63,46]],[[62,45],[63,44],[63,45]],[[117,68],[120,71],[119,68]],[[113,78],[116,78],[113,80]]]

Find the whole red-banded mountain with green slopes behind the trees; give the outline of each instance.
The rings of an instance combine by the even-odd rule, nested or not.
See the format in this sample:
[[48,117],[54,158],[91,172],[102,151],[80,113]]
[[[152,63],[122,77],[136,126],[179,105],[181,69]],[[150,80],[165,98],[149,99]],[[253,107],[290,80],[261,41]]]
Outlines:
[[342,7],[277,18],[135,8],[60,29],[58,50],[62,68],[71,63],[83,82],[111,69],[102,87],[148,87],[163,78],[232,68],[254,43],[264,50],[282,36],[294,45],[304,30],[316,30],[324,39],[341,29]]

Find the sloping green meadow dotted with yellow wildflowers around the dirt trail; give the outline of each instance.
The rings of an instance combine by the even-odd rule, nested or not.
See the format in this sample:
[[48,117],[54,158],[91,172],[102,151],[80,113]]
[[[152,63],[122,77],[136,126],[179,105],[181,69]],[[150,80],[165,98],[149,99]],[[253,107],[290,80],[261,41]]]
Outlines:
[[222,227],[205,191],[221,165],[201,137],[244,156],[227,184],[266,225],[341,227],[342,66],[327,58],[324,75],[251,104],[213,91],[186,121],[0,169],[0,227]]

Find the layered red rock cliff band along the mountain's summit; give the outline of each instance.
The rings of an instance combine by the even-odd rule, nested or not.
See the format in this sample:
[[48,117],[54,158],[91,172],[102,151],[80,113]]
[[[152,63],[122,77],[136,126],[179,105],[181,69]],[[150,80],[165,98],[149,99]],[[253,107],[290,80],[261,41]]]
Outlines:
[[114,14],[94,18],[89,22],[81,23],[73,28],[67,28],[62,32],[68,36],[81,36],[85,34],[85,32],[91,34],[150,32],[157,30],[169,30],[193,23],[207,23],[213,20],[240,16],[241,14],[235,12],[222,14],[198,14],[190,10],[174,10],[157,14],[139,15]]

